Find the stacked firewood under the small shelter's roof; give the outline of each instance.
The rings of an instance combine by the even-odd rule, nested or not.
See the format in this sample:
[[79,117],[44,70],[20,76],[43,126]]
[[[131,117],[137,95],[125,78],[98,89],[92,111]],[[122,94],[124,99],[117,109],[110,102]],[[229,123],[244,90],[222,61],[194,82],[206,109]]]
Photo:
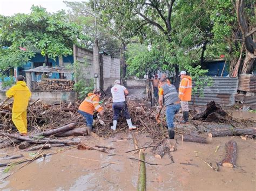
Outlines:
[[34,89],[37,91],[73,91],[74,84],[75,82],[71,80],[43,78],[41,82],[35,82]]

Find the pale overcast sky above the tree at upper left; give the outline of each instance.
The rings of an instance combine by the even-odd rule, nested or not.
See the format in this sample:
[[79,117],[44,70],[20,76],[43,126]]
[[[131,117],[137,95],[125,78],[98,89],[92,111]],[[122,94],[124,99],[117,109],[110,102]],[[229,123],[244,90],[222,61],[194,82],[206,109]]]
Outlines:
[[[82,2],[84,0],[66,0]],[[48,12],[57,12],[68,8],[63,0],[0,0],[0,15],[11,16],[15,13],[29,13],[32,5],[41,5]]]

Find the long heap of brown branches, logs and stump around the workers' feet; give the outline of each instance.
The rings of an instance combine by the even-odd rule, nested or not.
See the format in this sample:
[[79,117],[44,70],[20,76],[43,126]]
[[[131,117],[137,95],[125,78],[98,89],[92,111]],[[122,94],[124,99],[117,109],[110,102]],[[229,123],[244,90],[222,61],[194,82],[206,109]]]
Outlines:
[[[113,122],[112,101],[104,99],[103,107],[105,113],[103,116],[95,115],[95,123],[93,132],[100,137],[110,137],[119,132],[128,132],[128,126],[125,118],[121,115],[118,120],[117,130],[112,131],[110,126]],[[87,135],[87,129],[85,126],[84,118],[78,113],[79,102],[75,103],[59,103],[48,105],[41,101],[33,102],[28,107],[28,130],[30,138],[24,139],[20,136],[14,136],[10,133],[17,132],[14,124],[11,121],[11,104],[5,105],[5,109],[0,109],[0,128],[4,138],[1,141],[0,147],[9,146],[12,144],[21,143],[21,140],[29,143],[29,146],[36,144],[65,144],[70,143],[78,144],[73,140],[53,141],[52,138],[45,138],[45,136],[55,137],[68,137],[68,136],[84,136]],[[154,143],[163,143],[167,135],[166,120],[164,111],[161,113],[159,120],[156,120],[156,116],[159,112],[158,108],[147,107],[143,102],[137,103],[128,101],[127,106],[131,114],[132,122],[138,128],[137,133],[146,133],[149,135]],[[207,104],[205,111],[194,116],[191,123],[185,125],[176,126],[176,133],[183,135],[183,140],[188,142],[207,143],[206,137],[201,137],[200,133],[207,131],[209,136],[232,136],[232,135],[250,135],[252,138],[256,135],[255,121],[243,119],[234,119],[228,113],[226,113],[219,105],[214,102]],[[214,119],[214,120],[213,120]],[[199,122],[201,120],[202,122]],[[211,125],[214,128],[205,129],[201,131],[200,125],[211,121]],[[178,121],[176,119],[176,121]],[[225,124],[231,124],[233,128],[218,129],[221,125],[220,122]],[[190,128],[190,126],[193,126]],[[69,129],[71,127],[71,129]],[[254,128],[254,129],[253,129]],[[224,132],[226,131],[226,132]],[[211,133],[211,135],[210,135]],[[57,143],[58,142],[58,143]],[[49,146],[49,145],[48,145]],[[22,147],[24,148],[24,147]]]

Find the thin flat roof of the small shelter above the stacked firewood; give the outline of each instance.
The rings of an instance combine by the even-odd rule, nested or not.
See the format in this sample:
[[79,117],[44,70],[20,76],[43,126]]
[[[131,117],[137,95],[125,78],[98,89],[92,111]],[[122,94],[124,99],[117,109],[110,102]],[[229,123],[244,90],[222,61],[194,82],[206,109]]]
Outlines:
[[64,74],[73,74],[73,70],[67,69],[64,66],[59,67],[50,67],[50,66],[39,66],[36,68],[31,68],[24,70],[24,72],[39,72],[39,73],[64,73]]

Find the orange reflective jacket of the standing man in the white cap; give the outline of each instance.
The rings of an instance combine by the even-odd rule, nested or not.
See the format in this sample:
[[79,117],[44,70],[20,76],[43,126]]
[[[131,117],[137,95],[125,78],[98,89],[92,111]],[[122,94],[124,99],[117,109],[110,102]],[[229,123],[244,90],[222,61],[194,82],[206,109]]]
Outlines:
[[192,93],[192,78],[185,76],[179,84],[179,98],[180,101],[191,101]]

